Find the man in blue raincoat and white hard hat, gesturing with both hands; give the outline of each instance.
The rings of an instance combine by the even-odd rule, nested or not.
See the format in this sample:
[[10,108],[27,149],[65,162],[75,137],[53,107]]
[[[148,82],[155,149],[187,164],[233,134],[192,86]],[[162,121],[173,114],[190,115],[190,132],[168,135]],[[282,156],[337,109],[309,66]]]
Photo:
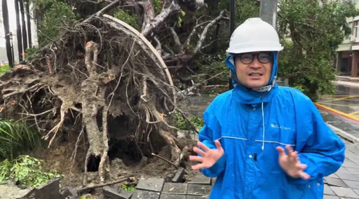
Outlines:
[[309,97],[278,87],[278,34],[250,18],[231,36],[233,90],[203,114],[194,170],[217,177],[210,198],[323,198],[323,177],[344,161],[344,142]]

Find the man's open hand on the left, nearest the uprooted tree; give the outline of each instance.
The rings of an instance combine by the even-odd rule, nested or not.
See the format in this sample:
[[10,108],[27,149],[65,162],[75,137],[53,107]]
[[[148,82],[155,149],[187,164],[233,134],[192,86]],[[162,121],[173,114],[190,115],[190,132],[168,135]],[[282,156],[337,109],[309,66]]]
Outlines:
[[217,149],[209,149],[202,142],[197,142],[197,144],[198,147],[203,149],[203,151],[195,146],[194,152],[198,153],[198,155],[200,156],[189,156],[190,161],[199,162],[199,164],[192,166],[193,170],[200,170],[203,168],[212,167],[212,165],[214,165],[217,162],[217,160],[219,160],[219,158],[221,158],[224,154],[224,150],[221,146],[221,143],[218,140],[215,141],[215,145]]

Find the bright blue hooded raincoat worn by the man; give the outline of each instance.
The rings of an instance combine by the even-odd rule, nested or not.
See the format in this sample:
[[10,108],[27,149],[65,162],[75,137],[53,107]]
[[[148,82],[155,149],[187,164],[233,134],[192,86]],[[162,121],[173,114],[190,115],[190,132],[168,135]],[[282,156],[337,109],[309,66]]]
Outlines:
[[[277,73],[276,56],[269,82]],[[232,55],[226,64],[235,71]],[[199,140],[215,149],[218,139],[224,149],[215,165],[202,170],[207,177],[217,177],[211,199],[323,198],[323,177],[344,161],[344,142],[311,99],[293,88],[275,84],[269,92],[255,92],[238,84],[217,96],[203,118]],[[307,165],[309,180],[294,179],[281,169],[276,147],[287,144]]]

